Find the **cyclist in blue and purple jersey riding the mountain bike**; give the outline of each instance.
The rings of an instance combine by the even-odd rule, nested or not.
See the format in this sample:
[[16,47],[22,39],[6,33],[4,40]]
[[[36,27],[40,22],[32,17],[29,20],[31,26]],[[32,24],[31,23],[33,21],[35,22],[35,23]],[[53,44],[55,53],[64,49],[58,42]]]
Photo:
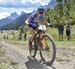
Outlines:
[[[32,48],[32,39],[35,35],[35,30],[37,31],[38,30],[38,25],[40,23],[40,21],[43,21],[44,25],[47,26],[47,20],[45,18],[45,15],[44,15],[44,9],[43,8],[38,8],[37,9],[37,12],[31,16],[29,16],[25,23],[28,24],[29,26],[29,29],[30,29],[30,48]],[[43,49],[43,44],[41,42],[41,39],[42,39],[42,33],[39,34],[39,41],[40,41],[40,46],[41,48]]]

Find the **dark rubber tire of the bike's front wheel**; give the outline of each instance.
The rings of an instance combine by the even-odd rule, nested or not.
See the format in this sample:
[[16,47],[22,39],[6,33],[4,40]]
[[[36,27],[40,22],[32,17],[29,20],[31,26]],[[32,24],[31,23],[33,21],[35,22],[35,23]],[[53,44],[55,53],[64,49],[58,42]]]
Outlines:
[[42,55],[42,50],[40,49],[40,57],[41,57],[41,59],[42,59],[47,65],[52,65],[53,62],[55,61],[55,58],[56,58],[56,46],[55,46],[55,43],[54,43],[53,38],[52,38],[50,35],[44,34],[44,35],[43,35],[43,38],[44,38],[44,37],[48,37],[49,40],[51,41],[52,46],[53,46],[53,47],[52,47],[52,48],[53,48],[53,55],[52,55],[51,60],[48,61],[48,62],[46,62],[46,61],[45,61],[45,58],[44,58],[43,55]]

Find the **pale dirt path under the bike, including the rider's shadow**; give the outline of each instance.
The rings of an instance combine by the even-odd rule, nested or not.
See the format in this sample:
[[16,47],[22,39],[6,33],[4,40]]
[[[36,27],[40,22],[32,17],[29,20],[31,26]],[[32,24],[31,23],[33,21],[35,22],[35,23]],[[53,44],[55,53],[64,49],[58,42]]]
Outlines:
[[36,59],[28,58],[29,52],[26,49],[22,49],[17,45],[10,45],[8,43],[2,42],[3,47],[6,50],[7,56],[11,59],[18,61],[24,68],[20,69],[75,69],[74,64],[60,64],[55,61],[52,66],[46,66],[45,64],[41,64]]

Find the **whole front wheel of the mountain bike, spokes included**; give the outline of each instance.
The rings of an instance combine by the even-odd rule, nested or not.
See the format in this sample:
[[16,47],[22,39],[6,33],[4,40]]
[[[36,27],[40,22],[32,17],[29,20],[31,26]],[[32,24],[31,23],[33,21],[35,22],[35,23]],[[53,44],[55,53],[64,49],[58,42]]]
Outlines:
[[43,50],[40,50],[40,56],[46,64],[52,65],[56,58],[56,46],[53,38],[48,34],[44,35],[42,44]]

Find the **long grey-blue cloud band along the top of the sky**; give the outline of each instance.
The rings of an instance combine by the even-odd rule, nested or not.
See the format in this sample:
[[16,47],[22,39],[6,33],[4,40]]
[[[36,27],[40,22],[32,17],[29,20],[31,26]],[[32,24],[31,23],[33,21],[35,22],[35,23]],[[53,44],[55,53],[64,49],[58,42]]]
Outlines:
[[0,0],[1,7],[29,8],[47,5],[51,0]]

